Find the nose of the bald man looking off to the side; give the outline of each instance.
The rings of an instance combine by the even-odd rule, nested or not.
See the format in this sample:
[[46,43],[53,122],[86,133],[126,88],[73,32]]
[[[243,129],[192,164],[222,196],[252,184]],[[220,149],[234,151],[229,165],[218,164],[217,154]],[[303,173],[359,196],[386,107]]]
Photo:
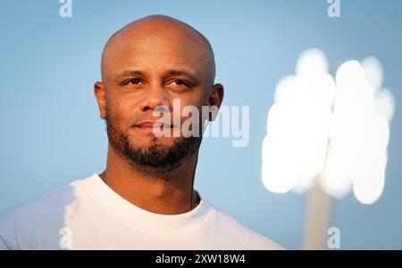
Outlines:
[[154,111],[156,107],[163,106],[172,109],[169,94],[162,85],[149,85],[141,103],[141,110]]

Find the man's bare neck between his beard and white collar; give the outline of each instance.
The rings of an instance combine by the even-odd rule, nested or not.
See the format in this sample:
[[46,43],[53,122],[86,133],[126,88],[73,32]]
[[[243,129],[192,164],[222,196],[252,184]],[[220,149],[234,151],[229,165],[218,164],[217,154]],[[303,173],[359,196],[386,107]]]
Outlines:
[[136,170],[109,146],[106,169],[99,176],[137,207],[157,214],[181,214],[197,207],[200,201],[192,182],[197,154],[170,173],[151,174]]

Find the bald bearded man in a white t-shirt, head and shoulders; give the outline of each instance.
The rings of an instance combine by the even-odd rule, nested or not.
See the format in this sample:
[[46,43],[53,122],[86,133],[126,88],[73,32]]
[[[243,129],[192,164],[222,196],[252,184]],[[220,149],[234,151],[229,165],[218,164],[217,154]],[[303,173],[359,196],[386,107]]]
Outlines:
[[281,249],[193,188],[202,129],[215,115],[198,113],[188,131],[199,134],[188,136],[182,110],[223,99],[203,35],[167,16],[133,21],[107,41],[101,71],[94,93],[109,140],[105,171],[6,211],[0,248]]

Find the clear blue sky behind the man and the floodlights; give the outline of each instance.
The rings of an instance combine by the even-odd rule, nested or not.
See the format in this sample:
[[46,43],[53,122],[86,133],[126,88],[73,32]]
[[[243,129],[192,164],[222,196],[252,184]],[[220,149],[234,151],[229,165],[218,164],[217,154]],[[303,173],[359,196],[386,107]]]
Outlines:
[[340,0],[340,18],[326,0],[0,2],[0,211],[100,173],[107,137],[93,83],[103,45],[114,31],[149,14],[197,28],[214,47],[224,105],[250,106],[250,142],[203,142],[196,188],[240,223],[301,248],[306,194],[273,194],[261,183],[261,145],[278,80],[294,73],[310,47],[327,54],[331,73],[348,60],[377,57],[384,86],[395,95],[389,164],[380,200],[364,206],[349,194],[333,202],[331,226],[341,248],[402,248],[402,1]]

